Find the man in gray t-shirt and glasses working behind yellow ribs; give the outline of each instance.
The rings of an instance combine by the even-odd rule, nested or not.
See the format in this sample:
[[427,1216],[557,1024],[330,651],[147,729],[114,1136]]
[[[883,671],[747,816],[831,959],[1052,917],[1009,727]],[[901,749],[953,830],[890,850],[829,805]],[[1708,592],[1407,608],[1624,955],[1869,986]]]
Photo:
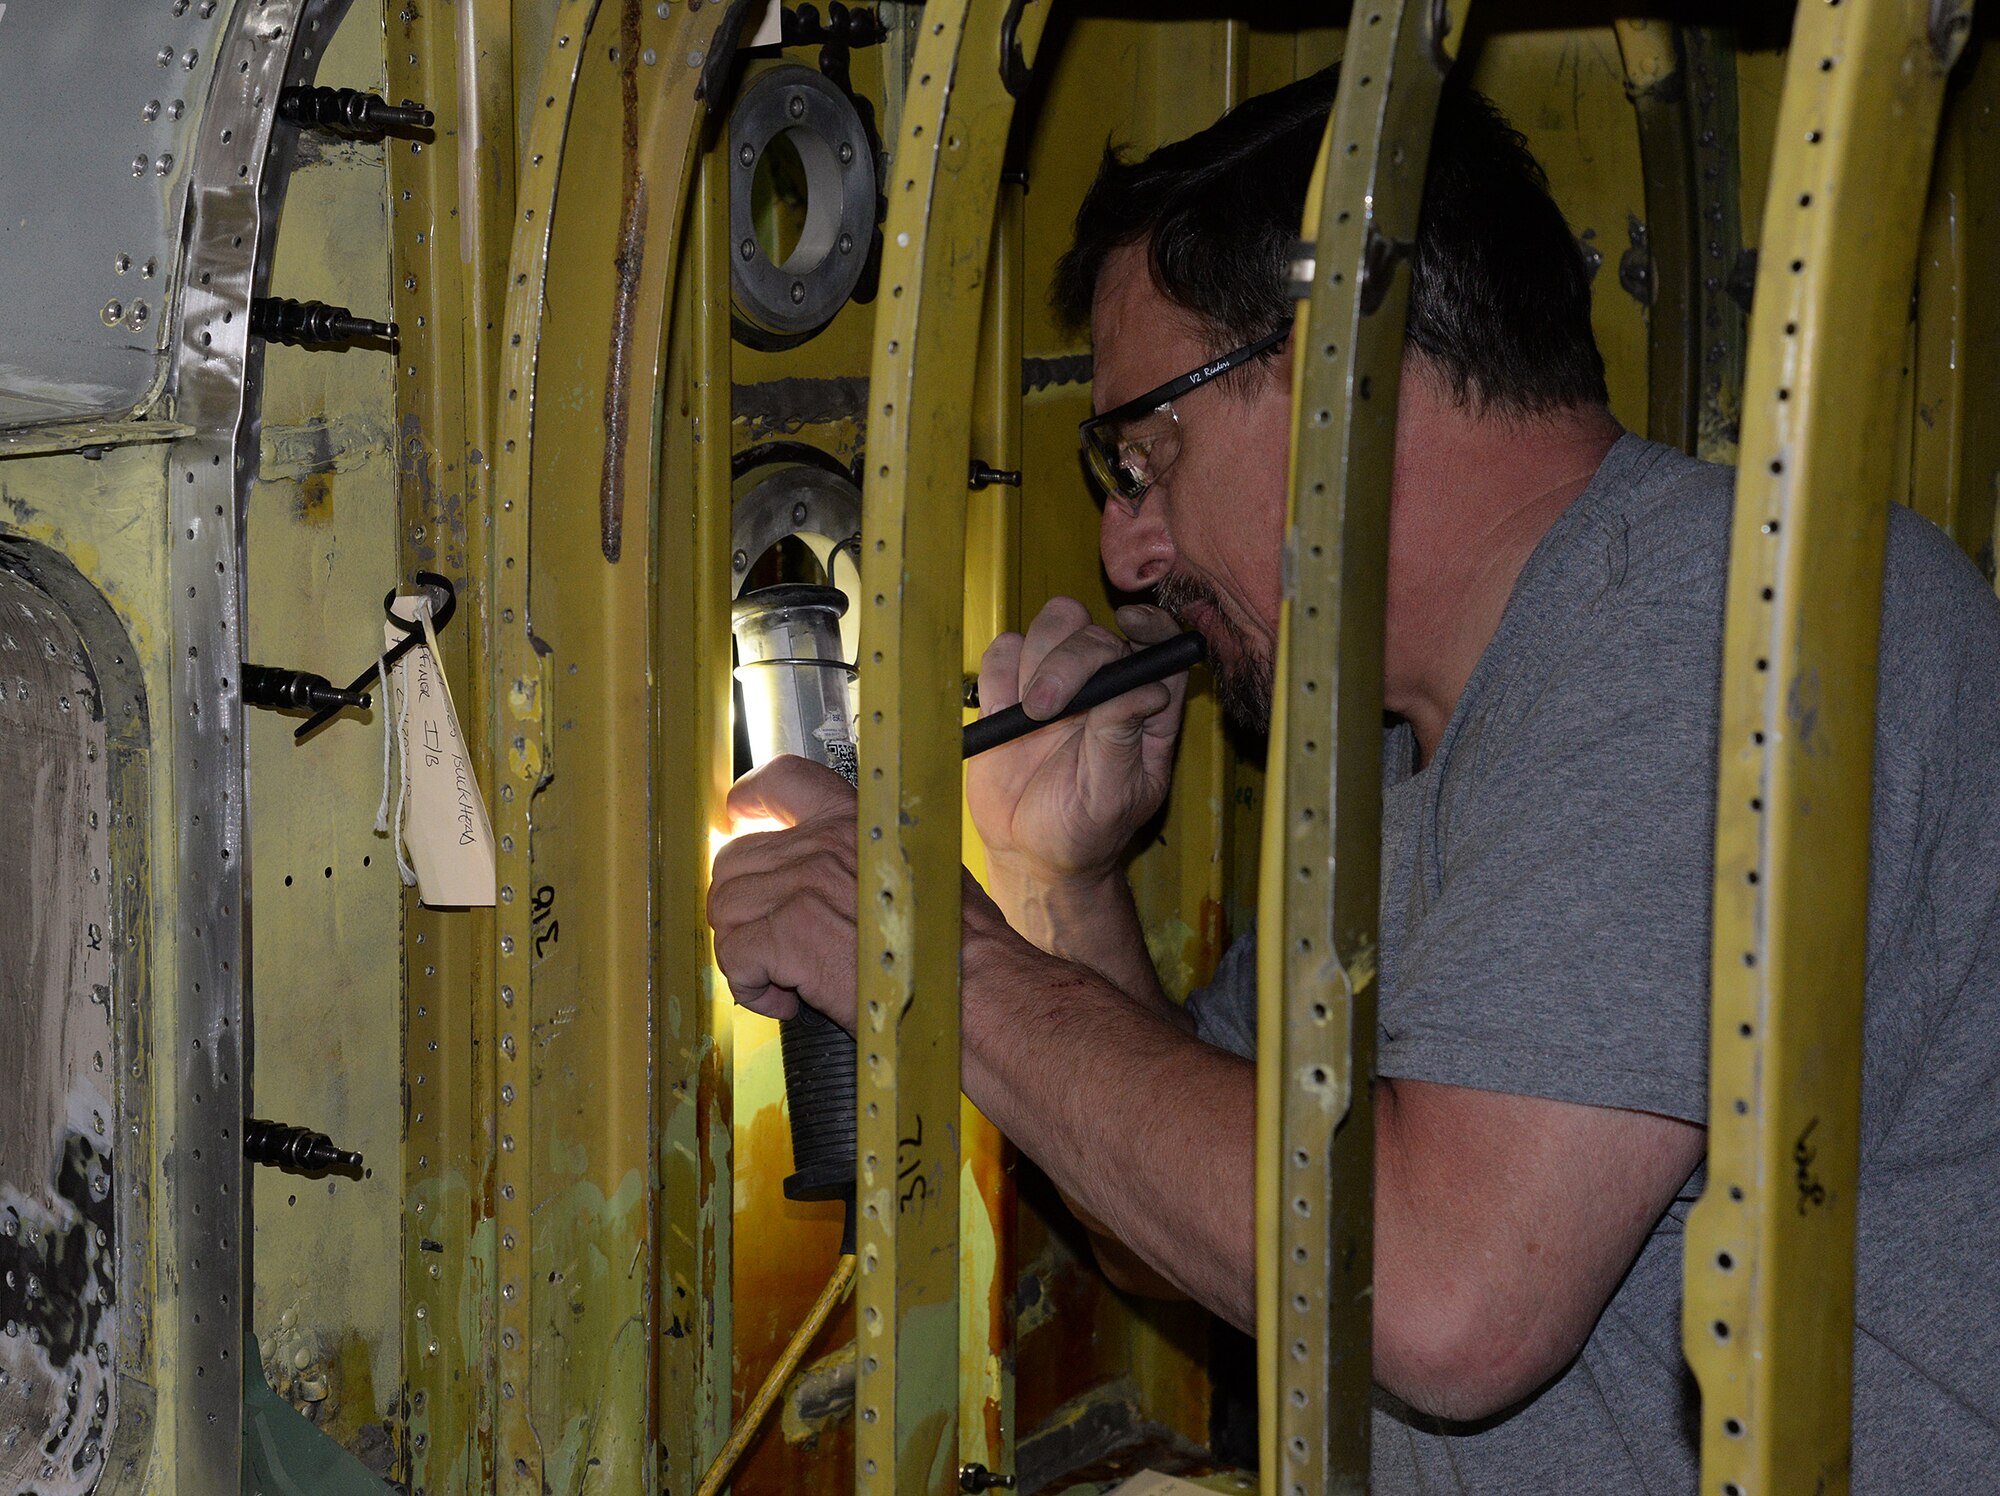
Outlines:
[[[1058,300],[1096,348],[1086,454],[1112,584],[1210,642],[1268,722],[1282,586],[1284,274],[1322,74],[1108,160]],[[1682,1220],[1700,1194],[1730,474],[1618,430],[1588,280],[1520,136],[1450,88],[1412,258],[1388,558],[1376,1488],[1692,1492]],[[1216,360],[1232,368],[1162,394]],[[1166,402],[1166,404],[1162,404]],[[1050,602],[988,710],[1048,716],[1130,646]],[[1160,806],[1184,682],[976,760],[964,1086],[1104,1238],[1254,1328],[1250,940],[1186,1010],[1118,860]],[[1854,1476],[2000,1486],[2000,608],[1890,526],[1868,972]],[[854,1022],[854,810],[798,760],[716,862],[736,996]],[[1912,1438],[1916,1428],[1924,1438]]]

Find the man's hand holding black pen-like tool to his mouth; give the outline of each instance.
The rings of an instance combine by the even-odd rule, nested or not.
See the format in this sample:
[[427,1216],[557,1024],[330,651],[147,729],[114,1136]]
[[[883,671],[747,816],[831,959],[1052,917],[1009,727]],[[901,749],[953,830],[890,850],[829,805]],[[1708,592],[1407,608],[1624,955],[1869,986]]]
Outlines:
[[[1160,608],[1118,610],[1140,644],[1178,628]],[[980,706],[1016,702],[1034,718],[1060,712],[1092,674],[1132,644],[1090,622],[1074,598],[1052,598],[1028,634],[1002,634],[980,660]],[[966,802],[994,872],[1032,882],[1094,882],[1166,800],[1188,678],[1140,686],[1082,716],[1030,732],[966,766]]]

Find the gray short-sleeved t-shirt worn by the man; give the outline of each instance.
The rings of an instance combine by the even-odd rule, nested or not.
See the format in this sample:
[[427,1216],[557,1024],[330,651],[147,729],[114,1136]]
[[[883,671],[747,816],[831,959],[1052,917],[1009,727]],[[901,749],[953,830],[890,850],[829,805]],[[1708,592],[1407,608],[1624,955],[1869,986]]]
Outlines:
[[[1706,1122],[1732,474],[1636,436],[1550,528],[1438,752],[1388,734],[1384,1076]],[[2000,604],[1894,508],[1876,702],[1854,1490],[2000,1490]],[[1188,1006],[1256,1054],[1254,938]],[[1694,1492],[1682,1224],[1478,1426],[1376,1408],[1378,1492]]]

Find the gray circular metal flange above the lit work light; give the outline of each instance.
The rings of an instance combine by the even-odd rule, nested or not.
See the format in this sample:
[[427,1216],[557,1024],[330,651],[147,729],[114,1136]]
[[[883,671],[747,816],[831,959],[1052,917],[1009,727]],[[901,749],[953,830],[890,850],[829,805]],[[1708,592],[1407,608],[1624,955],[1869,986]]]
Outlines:
[[[756,234],[752,184],[784,138],[806,174],[806,222],[782,264]],[[730,110],[730,290],[736,312],[780,336],[834,320],[860,284],[876,224],[876,162],[852,100],[812,68],[772,68]]]

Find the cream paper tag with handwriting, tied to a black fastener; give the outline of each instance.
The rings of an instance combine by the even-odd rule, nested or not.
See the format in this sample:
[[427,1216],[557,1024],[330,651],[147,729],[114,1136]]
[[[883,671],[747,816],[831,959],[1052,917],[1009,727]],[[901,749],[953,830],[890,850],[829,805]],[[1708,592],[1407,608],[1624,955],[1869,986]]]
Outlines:
[[[402,844],[416,868],[416,896],[430,906],[486,906],[494,902],[494,830],[458,732],[452,688],[438,668],[430,606],[424,598],[396,598],[394,612],[424,622],[424,640],[390,666],[394,702],[384,702],[402,736]],[[394,624],[382,626],[384,648],[402,638]]]

